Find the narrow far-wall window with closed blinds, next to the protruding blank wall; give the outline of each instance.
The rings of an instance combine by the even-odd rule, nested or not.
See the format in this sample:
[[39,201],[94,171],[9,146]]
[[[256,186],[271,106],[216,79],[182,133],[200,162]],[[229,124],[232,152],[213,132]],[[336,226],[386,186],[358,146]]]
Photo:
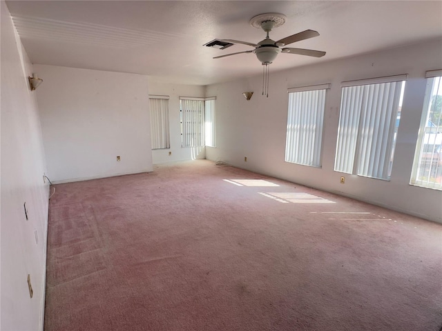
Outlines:
[[169,97],[149,96],[152,149],[171,148],[169,138]]

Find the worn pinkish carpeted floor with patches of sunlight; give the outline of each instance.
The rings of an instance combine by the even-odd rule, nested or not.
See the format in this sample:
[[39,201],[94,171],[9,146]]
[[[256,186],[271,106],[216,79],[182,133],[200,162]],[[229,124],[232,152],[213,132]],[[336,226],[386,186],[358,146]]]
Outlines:
[[441,224],[206,160],[55,187],[47,331],[441,329]]

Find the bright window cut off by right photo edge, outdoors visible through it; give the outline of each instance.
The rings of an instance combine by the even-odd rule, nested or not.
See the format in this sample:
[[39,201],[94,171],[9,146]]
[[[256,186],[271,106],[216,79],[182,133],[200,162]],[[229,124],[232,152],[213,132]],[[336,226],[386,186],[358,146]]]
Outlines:
[[427,72],[412,178],[410,183],[442,190],[442,70]]

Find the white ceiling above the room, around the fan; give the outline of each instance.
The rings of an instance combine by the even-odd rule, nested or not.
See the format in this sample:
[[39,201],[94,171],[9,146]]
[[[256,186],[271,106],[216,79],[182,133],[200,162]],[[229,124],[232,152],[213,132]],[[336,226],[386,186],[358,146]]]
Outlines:
[[279,54],[271,71],[442,37],[442,1],[7,1],[32,63],[133,72],[208,85],[262,72],[251,50],[203,47],[212,39],[257,43],[249,25],[266,12],[287,16],[273,40],[311,29],[319,37],[289,47],[325,57]]

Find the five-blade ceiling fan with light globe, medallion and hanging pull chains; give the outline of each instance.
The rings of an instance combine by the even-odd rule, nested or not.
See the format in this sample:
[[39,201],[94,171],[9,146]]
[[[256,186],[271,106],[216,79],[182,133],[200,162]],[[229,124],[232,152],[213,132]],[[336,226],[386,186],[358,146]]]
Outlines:
[[264,66],[263,67],[264,74],[262,79],[262,94],[267,94],[268,97],[269,64],[272,63],[274,59],[276,59],[279,53],[300,54],[300,55],[307,55],[308,57],[323,57],[325,55],[325,52],[320,50],[306,50],[304,48],[285,47],[290,43],[296,43],[296,41],[318,37],[319,33],[314,30],[305,30],[296,34],[292,34],[289,37],[282,38],[278,41],[270,39],[269,32],[273,30],[273,28],[278,28],[278,26],[282,26],[282,24],[285,23],[286,19],[287,17],[285,17],[285,15],[274,12],[267,14],[259,14],[255,17],[252,17],[249,21],[250,25],[255,28],[262,28],[262,30],[264,30],[267,33],[265,39],[258,43],[249,43],[247,41],[240,41],[234,39],[215,39],[214,41],[206,43],[204,46],[224,49],[229,46],[232,46],[233,44],[240,43],[255,48],[254,50],[245,50],[244,52],[236,52],[231,54],[220,55],[219,57],[213,57],[213,59],[220,59],[222,57],[230,57],[232,55],[243,54],[243,53],[256,54],[256,57],[262,63],[262,66]]

